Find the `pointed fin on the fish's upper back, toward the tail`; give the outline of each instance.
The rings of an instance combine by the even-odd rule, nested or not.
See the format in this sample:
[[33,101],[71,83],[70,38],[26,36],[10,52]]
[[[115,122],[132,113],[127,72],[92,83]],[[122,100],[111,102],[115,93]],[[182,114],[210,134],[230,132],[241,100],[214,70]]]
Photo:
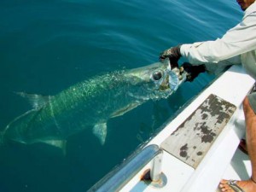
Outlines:
[[17,95],[22,96],[28,100],[32,108],[38,109],[44,107],[49,102],[51,96],[42,96],[38,94],[29,94],[25,92],[15,92]]

